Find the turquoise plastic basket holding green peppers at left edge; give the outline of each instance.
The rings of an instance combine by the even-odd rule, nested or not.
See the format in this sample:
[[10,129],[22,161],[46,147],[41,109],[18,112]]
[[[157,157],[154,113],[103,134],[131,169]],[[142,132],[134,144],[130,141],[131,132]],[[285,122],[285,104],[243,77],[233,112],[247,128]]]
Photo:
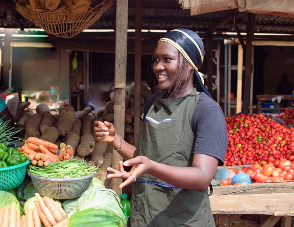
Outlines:
[[26,173],[26,165],[30,163],[30,160],[26,160],[24,163],[0,168],[0,190],[8,191],[23,183]]

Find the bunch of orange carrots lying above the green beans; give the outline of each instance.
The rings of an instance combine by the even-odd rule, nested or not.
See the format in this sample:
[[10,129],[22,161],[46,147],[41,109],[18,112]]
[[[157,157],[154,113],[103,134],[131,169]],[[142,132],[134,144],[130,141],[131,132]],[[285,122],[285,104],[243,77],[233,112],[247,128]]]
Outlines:
[[60,162],[73,157],[73,148],[71,145],[61,143],[59,155],[57,155],[57,149],[58,146],[53,143],[36,137],[29,137],[25,141],[25,145],[19,148],[19,151],[25,153],[32,165],[38,166],[47,166],[49,162]]

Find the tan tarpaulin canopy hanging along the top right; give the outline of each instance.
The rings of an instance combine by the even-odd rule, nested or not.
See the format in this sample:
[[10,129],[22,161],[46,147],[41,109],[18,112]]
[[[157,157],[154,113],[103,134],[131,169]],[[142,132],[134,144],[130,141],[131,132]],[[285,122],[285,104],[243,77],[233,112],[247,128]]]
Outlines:
[[240,12],[294,17],[294,0],[178,0],[191,16],[238,9]]

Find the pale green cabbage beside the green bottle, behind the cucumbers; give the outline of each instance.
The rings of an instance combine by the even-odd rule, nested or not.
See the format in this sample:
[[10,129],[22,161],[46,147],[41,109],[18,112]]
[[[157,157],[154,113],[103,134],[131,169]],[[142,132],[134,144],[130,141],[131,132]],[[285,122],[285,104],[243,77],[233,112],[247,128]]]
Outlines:
[[125,226],[125,217],[123,215],[120,198],[115,193],[115,191],[111,189],[92,187],[86,190],[77,200],[76,207],[73,208],[71,215],[77,215],[78,212],[83,210],[87,210],[86,213],[89,214],[97,213],[97,215],[94,215],[96,218],[99,217],[98,213],[100,213],[102,210],[109,214],[109,221],[113,221],[115,219],[114,217],[119,217],[119,219],[121,219],[120,226]]

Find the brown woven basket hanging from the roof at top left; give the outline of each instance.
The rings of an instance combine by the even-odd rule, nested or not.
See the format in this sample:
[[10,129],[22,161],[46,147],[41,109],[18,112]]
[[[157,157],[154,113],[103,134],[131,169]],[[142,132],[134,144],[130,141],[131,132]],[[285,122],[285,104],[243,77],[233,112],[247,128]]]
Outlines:
[[16,10],[47,33],[68,39],[97,22],[112,2],[113,0],[103,0],[101,4],[84,13],[35,12],[19,4],[16,4]]

